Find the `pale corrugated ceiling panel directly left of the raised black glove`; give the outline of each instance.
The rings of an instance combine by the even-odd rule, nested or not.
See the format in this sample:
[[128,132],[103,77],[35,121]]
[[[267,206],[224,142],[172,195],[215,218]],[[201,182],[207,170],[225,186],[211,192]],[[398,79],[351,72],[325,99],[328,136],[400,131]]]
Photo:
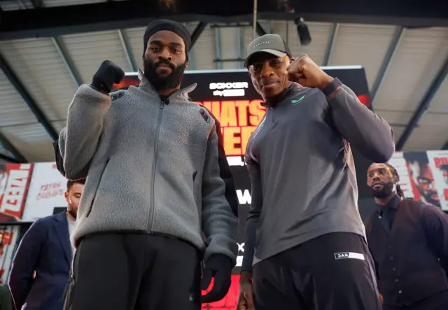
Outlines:
[[[6,41],[1,53],[50,120],[66,118],[76,84],[50,38]],[[24,102],[25,104],[25,102]]]

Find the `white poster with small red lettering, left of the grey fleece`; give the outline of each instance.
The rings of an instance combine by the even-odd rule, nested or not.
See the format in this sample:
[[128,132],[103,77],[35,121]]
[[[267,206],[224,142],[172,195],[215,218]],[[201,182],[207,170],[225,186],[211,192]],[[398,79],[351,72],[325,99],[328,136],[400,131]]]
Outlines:
[[34,222],[38,218],[51,216],[57,207],[66,208],[66,183],[66,178],[59,173],[55,162],[34,164],[22,221]]

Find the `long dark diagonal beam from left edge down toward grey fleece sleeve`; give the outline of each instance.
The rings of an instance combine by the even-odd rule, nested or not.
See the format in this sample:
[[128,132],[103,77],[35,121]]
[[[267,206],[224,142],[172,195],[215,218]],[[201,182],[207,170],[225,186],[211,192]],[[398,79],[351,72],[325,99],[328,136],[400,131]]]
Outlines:
[[5,76],[8,78],[10,83],[15,87],[15,90],[20,94],[22,99],[31,109],[31,112],[36,116],[38,122],[42,124],[45,130],[50,135],[51,139],[56,140],[58,138],[58,134],[56,132],[55,127],[53,127],[50,123],[50,120],[45,116],[41,108],[36,104],[36,101],[31,97],[25,86],[19,80],[18,76],[15,75],[13,70],[10,68],[9,64],[4,59],[3,55],[0,54],[0,69],[5,73]]

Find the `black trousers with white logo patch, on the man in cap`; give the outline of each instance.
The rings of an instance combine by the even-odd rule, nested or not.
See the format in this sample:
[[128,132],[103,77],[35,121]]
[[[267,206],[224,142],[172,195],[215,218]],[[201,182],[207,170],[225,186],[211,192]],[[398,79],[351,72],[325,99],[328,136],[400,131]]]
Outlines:
[[337,232],[253,266],[256,310],[381,310],[363,237]]

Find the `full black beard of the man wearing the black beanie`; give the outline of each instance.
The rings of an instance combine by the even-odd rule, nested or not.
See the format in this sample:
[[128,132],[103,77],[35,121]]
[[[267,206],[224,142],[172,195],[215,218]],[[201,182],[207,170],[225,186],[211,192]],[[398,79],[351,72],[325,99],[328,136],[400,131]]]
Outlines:
[[[172,69],[172,73],[168,76],[160,76],[155,70],[160,64],[167,64]],[[155,90],[170,90],[181,85],[183,72],[187,68],[186,62],[174,66],[171,62],[160,60],[159,62],[153,62],[152,60],[143,59],[144,75],[148,78]]]

